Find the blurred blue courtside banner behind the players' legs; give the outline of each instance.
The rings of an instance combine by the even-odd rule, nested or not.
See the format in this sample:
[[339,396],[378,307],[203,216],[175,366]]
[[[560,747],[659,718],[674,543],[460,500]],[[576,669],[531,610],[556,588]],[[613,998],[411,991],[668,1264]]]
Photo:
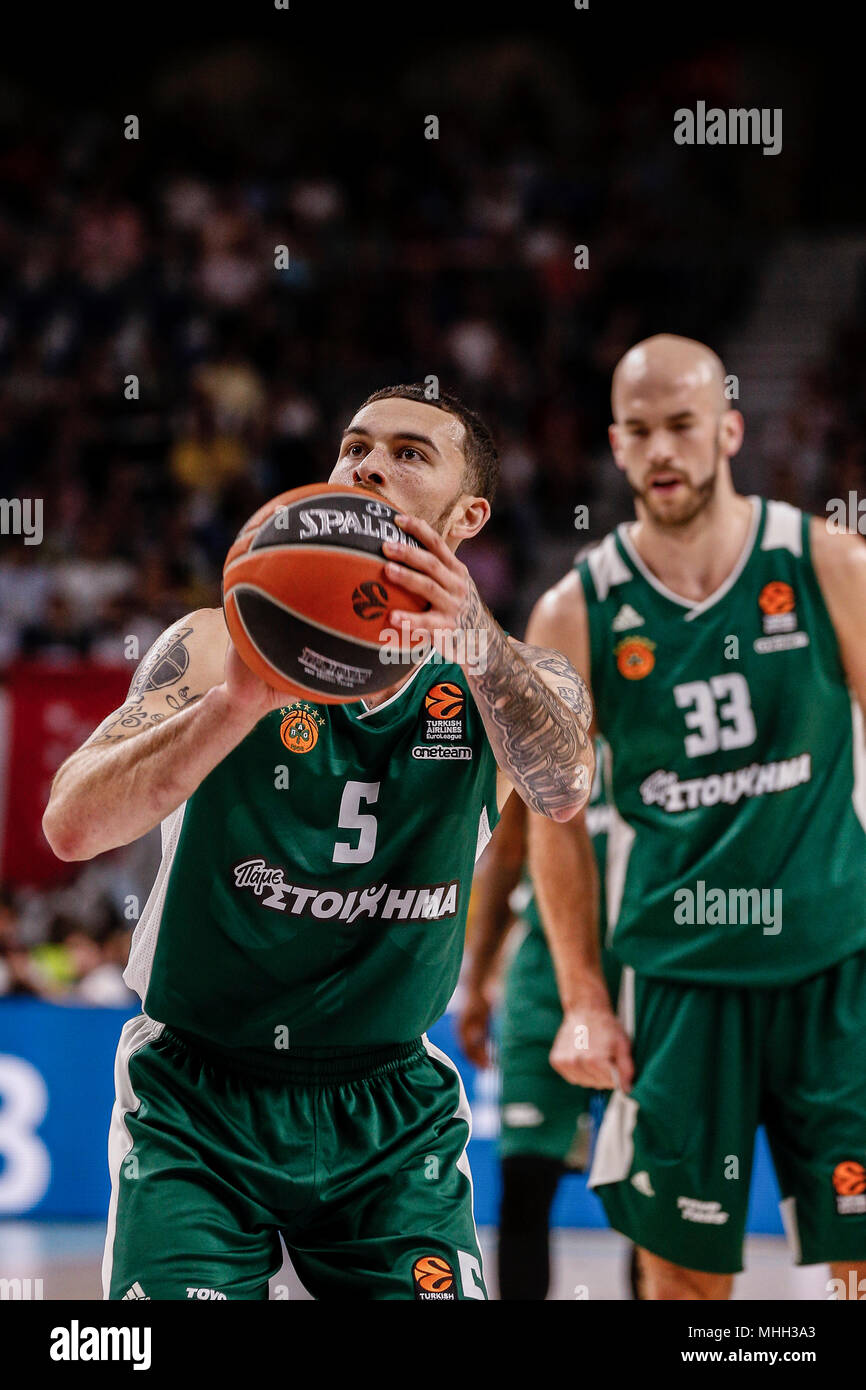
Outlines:
[[[108,1208],[107,1138],[114,1049],[129,1013],[35,999],[0,1004],[0,1216],[101,1219]],[[477,1070],[457,1045],[452,1015],[430,1040],[457,1065],[473,1108],[470,1162],[475,1220],[496,1225],[498,1074]],[[778,1190],[763,1131],[752,1175],[749,1230],[781,1233]],[[556,1226],[605,1226],[581,1176],[562,1183]]]

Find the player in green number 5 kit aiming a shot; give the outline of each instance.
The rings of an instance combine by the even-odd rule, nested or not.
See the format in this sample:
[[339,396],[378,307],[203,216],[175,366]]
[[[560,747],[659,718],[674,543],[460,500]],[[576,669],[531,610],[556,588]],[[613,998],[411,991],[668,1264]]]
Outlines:
[[[487,1298],[468,1106],[425,1030],[512,788],[567,820],[594,771],[581,677],[506,637],[455,553],[496,474],[459,400],[377,392],[329,481],[420,542],[389,545],[386,575],[430,603],[391,614],[431,634],[427,657],[368,699],[297,702],[245,666],[222,609],[195,612],[57,771],[61,859],[163,833],[126,969],[143,1012],[117,1052],[106,1298],[264,1300],[281,1233],[317,1298]],[[487,660],[435,659],[434,634],[470,631]],[[443,684],[460,759],[428,756]]]

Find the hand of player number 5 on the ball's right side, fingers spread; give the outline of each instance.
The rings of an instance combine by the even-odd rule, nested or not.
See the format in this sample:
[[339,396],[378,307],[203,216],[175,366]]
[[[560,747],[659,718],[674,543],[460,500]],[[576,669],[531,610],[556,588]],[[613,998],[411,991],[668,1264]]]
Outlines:
[[424,549],[386,541],[382,546],[389,557],[385,574],[418,598],[427,599],[430,607],[423,613],[392,609],[391,623],[398,628],[402,623],[409,623],[413,638],[428,632],[434,645],[436,634],[487,627],[491,620],[475,581],[442,537],[418,517],[398,516],[395,521],[402,531],[416,537]]

